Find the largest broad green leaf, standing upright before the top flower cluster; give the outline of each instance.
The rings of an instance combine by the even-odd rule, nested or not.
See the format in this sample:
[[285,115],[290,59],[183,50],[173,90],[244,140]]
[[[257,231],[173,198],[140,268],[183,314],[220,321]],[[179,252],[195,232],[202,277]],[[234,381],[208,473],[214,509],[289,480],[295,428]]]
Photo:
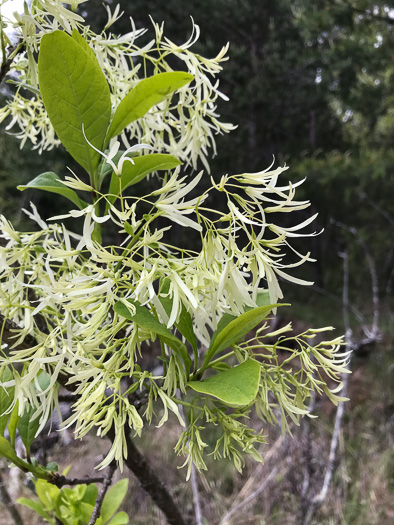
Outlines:
[[79,37],[54,31],[41,39],[38,76],[51,123],[69,153],[92,176],[111,116],[108,83],[92,50]]

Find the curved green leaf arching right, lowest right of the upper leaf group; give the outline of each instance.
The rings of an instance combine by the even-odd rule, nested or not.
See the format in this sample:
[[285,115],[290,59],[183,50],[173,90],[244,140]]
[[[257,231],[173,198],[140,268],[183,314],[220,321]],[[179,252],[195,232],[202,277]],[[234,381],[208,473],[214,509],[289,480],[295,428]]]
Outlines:
[[[134,157],[133,160],[134,164],[128,161],[123,164],[120,180],[117,175],[112,175],[108,190],[108,193],[111,195],[108,200],[111,204],[116,199],[115,195],[119,195],[121,184],[123,192],[129,186],[140,182],[144,177],[149,175],[149,173],[172,170],[182,164],[177,158],[164,153],[152,153],[151,155]],[[112,195],[114,195],[114,197],[112,197]]]

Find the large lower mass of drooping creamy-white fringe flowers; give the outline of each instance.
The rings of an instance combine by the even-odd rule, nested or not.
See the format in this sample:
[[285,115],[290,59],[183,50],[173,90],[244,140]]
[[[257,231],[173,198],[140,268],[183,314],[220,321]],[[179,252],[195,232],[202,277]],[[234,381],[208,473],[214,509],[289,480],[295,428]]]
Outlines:
[[[168,369],[154,372],[141,368],[141,343],[153,341],[156,335],[119,316],[114,304],[129,299],[138,301],[155,312],[169,329],[174,328],[182,309],[186,309],[202,349],[209,345],[210,334],[222,315],[239,315],[245,307],[256,307],[258,292],[268,288],[274,304],[282,295],[278,276],[300,282],[285,270],[309,260],[307,254],[299,256],[297,263],[286,265],[283,248],[289,246],[289,238],[303,235],[299,230],[312,219],[290,228],[279,228],[268,220],[274,212],[291,212],[309,205],[294,200],[290,183],[278,186],[278,177],[285,170],[225,176],[203,195],[190,198],[188,194],[201,174],[186,184],[176,169],[159,190],[143,197],[122,197],[121,209],[110,204],[104,217],[98,217],[90,205],[54,218],[82,216],[82,236],[72,234],[64,225],[47,225],[34,207],[28,213],[38,222],[38,232],[16,232],[1,217],[0,312],[20,327],[15,346],[28,334],[37,341],[34,347],[11,349],[9,357],[1,358],[3,366],[24,365],[23,373],[15,369],[13,381],[3,385],[15,387],[20,412],[26,405],[34,406],[42,428],[57,404],[58,390],[54,385],[66,377],[77,401],[64,425],[75,425],[76,437],[84,436],[93,427],[103,436],[112,425],[115,427],[116,440],[101,466],[113,458],[122,463],[126,453],[125,423],[140,434],[143,418],[150,422],[153,417],[155,400],[160,400],[165,409],[159,424],[166,421],[168,410],[183,424],[175,397],[178,388],[185,391],[188,380],[182,361],[166,348]],[[65,184],[86,189],[77,178],[69,178]],[[225,212],[204,207],[212,192],[227,201]],[[106,198],[102,195],[102,199]],[[146,208],[147,204],[151,212],[142,214],[140,206]],[[167,242],[171,226],[157,225],[161,217],[195,230],[200,246],[192,251]],[[107,221],[115,223],[125,236],[122,246],[103,246],[93,240],[95,225],[105,227]],[[164,281],[169,283],[165,293],[161,287]],[[170,312],[163,308],[162,298],[171,299]],[[252,351],[253,344],[249,346]],[[338,363],[344,362],[342,358],[336,361],[337,346],[338,341],[332,341],[329,357],[320,360],[321,366],[332,370],[334,376],[338,374]],[[242,351],[247,354],[249,347]],[[307,366],[313,366],[308,359]],[[45,391],[37,383],[41,370],[49,371],[51,376]],[[270,383],[264,384],[269,390]],[[281,404],[277,395],[280,385],[273,381],[272,389]],[[148,392],[149,402],[140,415],[132,396],[144,391]],[[309,394],[310,388],[305,388],[304,397]],[[305,412],[297,409],[299,396],[283,399],[284,410],[291,417]],[[293,405],[296,408],[292,409]],[[267,392],[262,393],[260,413],[271,417],[271,406]],[[212,421],[219,418],[223,428],[229,425],[222,412],[209,417]],[[241,423],[234,425],[234,436],[236,432],[248,435]],[[250,436],[250,453],[257,454],[252,441],[259,439]],[[179,450],[185,452],[184,446],[180,444]],[[197,455],[192,460],[203,468],[198,447],[193,450]],[[231,454],[238,458],[234,450]]]

